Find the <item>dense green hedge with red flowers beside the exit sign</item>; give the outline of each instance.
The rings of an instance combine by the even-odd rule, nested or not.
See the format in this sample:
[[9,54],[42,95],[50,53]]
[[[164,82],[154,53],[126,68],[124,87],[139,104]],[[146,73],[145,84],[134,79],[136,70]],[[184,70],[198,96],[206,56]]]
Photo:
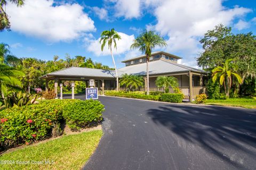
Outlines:
[[[76,103],[79,103],[79,106],[77,105],[78,107],[73,108],[71,111],[71,106]],[[83,104],[88,108],[79,108]],[[95,109],[90,105],[92,107],[103,107],[99,101],[56,99],[41,101],[39,104],[34,105],[4,109],[0,112],[0,150],[44,140],[52,135],[61,135],[60,124],[64,121],[63,115],[65,115],[68,122],[74,118],[75,121],[73,123],[78,123],[77,126],[86,126],[86,124],[90,124],[93,121],[100,121],[103,109],[100,110],[100,113],[95,113]],[[62,114],[66,109],[66,114]],[[70,115],[67,116],[67,113]],[[77,120],[79,120],[80,115],[83,115],[83,117],[88,116],[89,118],[79,122]]]

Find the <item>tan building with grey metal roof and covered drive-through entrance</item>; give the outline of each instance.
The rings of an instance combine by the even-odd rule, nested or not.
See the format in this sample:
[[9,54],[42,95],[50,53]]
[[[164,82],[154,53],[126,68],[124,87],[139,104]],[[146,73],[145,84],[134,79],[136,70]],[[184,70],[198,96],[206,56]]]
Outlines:
[[[149,88],[150,91],[163,90],[157,88],[155,81],[159,76],[173,76],[178,79],[179,88],[185,95],[185,98],[192,100],[196,95],[205,92],[204,79],[206,72],[195,69],[186,65],[178,64],[181,57],[172,55],[166,52],[154,52],[149,58]],[[146,56],[141,55],[123,61],[125,67],[118,69],[118,76],[122,77],[123,74],[141,75],[146,79]],[[89,81],[95,80],[95,86],[99,87],[102,91],[114,90],[116,88],[115,71],[89,69],[84,67],[69,67],[57,72],[46,74],[42,77],[47,82],[54,80],[54,89],[57,93],[58,81]],[[124,88],[120,88],[123,90]],[[140,88],[139,90],[145,90]],[[170,92],[173,89],[170,88]]]

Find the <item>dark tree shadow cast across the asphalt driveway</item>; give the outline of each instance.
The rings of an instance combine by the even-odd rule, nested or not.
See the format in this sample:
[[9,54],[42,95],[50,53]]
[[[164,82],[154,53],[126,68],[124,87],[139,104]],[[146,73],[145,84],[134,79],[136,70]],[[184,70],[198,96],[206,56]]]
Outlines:
[[154,123],[165,126],[184,140],[238,168],[246,169],[230,159],[225,149],[242,152],[252,160],[256,157],[255,110],[166,105],[148,109],[147,114]]

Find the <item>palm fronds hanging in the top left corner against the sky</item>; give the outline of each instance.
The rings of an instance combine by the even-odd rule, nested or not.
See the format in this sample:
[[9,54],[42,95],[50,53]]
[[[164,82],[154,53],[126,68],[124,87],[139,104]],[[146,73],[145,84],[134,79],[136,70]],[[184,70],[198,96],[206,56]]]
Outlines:
[[[18,7],[24,4],[24,0],[9,0],[10,2],[16,4]],[[0,1],[0,31],[4,29],[10,30],[11,24],[8,18],[7,13],[5,12],[5,5],[7,4],[6,0]]]

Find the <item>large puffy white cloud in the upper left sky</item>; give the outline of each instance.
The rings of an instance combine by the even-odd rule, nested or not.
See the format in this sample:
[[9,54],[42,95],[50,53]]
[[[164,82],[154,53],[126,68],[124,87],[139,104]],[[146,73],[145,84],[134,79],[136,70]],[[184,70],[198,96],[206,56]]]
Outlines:
[[70,41],[95,30],[93,20],[83,12],[83,6],[79,4],[26,0],[25,5],[19,8],[9,3],[6,10],[13,31],[46,41]]

